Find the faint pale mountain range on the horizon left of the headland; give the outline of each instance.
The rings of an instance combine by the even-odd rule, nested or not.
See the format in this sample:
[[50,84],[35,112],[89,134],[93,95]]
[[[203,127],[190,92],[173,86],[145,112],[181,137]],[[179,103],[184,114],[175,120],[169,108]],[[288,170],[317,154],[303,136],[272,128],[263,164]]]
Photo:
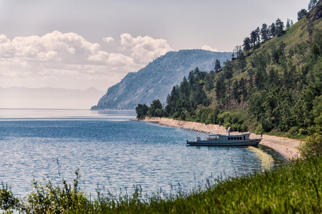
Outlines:
[[90,109],[106,91],[62,88],[0,87],[0,108]]

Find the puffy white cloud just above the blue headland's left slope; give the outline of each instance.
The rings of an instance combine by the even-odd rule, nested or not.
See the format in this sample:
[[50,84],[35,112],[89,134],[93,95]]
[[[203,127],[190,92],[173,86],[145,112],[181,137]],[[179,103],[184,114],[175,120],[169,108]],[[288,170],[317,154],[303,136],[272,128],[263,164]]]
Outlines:
[[156,57],[173,50],[165,39],[153,39],[149,36],[133,38],[129,33],[121,35],[121,46],[140,63],[149,63]]

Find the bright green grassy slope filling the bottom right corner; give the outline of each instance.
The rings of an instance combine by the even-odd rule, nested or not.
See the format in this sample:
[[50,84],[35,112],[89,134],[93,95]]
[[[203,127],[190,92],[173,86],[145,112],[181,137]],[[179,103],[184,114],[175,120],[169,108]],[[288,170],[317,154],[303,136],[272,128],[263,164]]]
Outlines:
[[[205,193],[158,204],[147,211],[179,213],[321,213],[322,161],[294,163],[272,172],[232,178]],[[161,208],[161,210],[160,210]]]

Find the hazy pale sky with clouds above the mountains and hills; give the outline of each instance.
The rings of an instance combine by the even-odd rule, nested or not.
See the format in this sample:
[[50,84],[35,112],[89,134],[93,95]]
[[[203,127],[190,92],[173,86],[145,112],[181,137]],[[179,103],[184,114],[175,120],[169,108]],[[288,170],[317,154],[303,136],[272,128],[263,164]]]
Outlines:
[[309,0],[0,0],[0,87],[107,90],[167,51],[232,51]]

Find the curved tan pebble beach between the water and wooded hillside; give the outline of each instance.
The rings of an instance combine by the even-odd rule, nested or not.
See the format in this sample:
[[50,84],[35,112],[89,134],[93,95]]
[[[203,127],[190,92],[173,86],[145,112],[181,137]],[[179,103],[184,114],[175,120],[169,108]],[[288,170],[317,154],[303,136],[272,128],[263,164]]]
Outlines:
[[[220,125],[214,124],[204,124],[190,121],[174,120],[171,118],[163,117],[146,117],[143,120],[131,119],[135,121],[145,121],[150,123],[157,123],[163,126],[184,128],[197,132],[204,133],[220,133],[225,134],[226,128]],[[231,132],[231,134],[238,134],[239,132]],[[251,138],[260,138],[259,134],[251,133]],[[263,139],[260,144],[268,146],[273,150],[278,151],[284,155],[288,160],[293,160],[299,158],[299,151],[296,147],[299,145],[300,140],[289,139],[286,137],[277,137],[272,135],[263,134]]]

